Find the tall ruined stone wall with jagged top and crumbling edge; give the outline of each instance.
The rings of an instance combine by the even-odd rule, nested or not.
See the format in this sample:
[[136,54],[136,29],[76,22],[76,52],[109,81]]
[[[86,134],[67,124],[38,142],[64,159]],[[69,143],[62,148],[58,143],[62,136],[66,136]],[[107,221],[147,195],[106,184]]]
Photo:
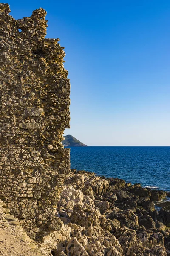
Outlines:
[[15,20],[0,4],[0,198],[35,235],[54,229],[60,179],[70,170],[68,72],[44,9]]

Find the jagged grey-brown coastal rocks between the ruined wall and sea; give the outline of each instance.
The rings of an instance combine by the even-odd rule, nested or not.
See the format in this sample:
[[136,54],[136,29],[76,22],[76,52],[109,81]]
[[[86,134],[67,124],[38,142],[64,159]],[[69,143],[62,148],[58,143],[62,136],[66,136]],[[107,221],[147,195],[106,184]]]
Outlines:
[[155,209],[166,196],[166,191],[72,169],[56,209],[54,230],[59,231],[52,255],[170,256],[170,211]]

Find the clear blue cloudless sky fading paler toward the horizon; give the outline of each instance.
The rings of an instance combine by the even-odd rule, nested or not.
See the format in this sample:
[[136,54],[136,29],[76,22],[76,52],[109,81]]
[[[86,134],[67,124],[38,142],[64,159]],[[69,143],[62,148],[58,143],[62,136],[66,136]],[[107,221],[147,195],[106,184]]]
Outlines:
[[169,0],[8,0],[47,11],[71,80],[71,134],[87,145],[170,146]]

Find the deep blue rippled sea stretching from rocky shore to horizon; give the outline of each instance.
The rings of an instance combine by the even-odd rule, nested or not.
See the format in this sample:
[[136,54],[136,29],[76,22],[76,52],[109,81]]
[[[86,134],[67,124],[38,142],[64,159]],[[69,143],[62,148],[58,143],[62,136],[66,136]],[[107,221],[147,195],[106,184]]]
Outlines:
[[71,168],[170,191],[170,147],[71,147]]

